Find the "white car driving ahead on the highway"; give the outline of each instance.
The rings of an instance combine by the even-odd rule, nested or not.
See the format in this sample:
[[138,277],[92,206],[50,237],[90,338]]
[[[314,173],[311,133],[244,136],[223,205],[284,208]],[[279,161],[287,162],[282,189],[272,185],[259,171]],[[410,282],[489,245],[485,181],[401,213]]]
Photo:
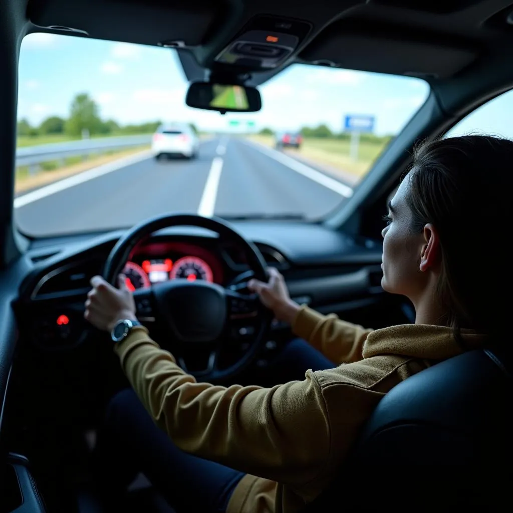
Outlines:
[[198,135],[190,125],[161,125],[153,134],[151,150],[155,159],[162,156],[182,155],[195,159],[200,149]]

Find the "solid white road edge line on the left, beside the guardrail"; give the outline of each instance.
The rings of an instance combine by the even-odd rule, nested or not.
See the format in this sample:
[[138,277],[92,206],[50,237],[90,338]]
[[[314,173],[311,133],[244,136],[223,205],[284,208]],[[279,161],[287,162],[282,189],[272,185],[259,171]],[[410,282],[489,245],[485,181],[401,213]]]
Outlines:
[[83,184],[84,182],[93,180],[98,176],[103,176],[104,174],[111,173],[112,171],[117,171],[118,169],[121,169],[125,166],[130,166],[131,164],[136,164],[137,162],[146,160],[150,156],[151,150],[144,150],[141,153],[129,155],[127,157],[117,159],[107,164],[103,164],[102,166],[93,167],[92,169],[88,169],[87,171],[83,171],[81,173],[68,176],[63,180],[53,182],[44,187],[40,187],[39,189],[35,189],[32,192],[28,192],[23,196],[18,196],[17,198],[14,198],[14,208],[24,207],[29,203],[33,203],[37,200],[42,200],[43,198],[46,198],[51,194],[55,194],[56,192],[61,192],[65,189],[69,189],[70,187],[74,187],[75,185]]

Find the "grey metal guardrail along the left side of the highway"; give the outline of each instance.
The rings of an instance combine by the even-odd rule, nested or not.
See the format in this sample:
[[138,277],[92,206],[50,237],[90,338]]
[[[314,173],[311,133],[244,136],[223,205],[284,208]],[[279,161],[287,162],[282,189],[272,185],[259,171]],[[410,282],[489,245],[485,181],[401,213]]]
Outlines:
[[105,151],[142,146],[151,142],[152,134],[124,135],[120,137],[100,137],[82,139],[66,143],[51,143],[28,146],[16,150],[16,167],[29,166],[37,168],[43,162],[64,160],[72,156],[89,156]]

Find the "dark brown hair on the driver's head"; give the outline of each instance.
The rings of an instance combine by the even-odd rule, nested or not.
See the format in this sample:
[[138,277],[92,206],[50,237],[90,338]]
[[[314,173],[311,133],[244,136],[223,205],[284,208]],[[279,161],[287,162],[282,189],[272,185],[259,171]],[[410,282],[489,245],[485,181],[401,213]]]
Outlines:
[[413,152],[412,228],[432,223],[440,233],[439,300],[460,342],[462,328],[495,337],[509,321],[512,176],[513,141],[499,137],[451,137]]

